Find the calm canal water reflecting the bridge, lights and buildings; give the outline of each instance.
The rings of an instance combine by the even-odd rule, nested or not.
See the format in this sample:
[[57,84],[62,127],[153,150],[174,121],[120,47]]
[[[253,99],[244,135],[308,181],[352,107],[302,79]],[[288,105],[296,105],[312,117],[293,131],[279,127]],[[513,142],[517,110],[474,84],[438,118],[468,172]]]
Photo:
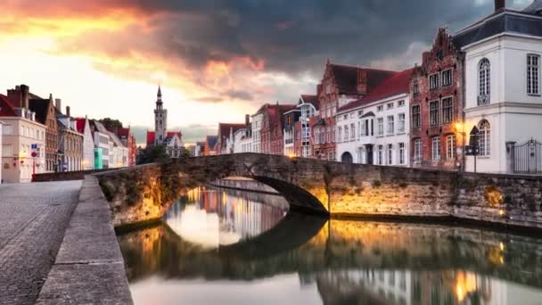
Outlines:
[[542,304],[542,240],[326,221],[282,197],[198,188],[119,236],[136,304]]

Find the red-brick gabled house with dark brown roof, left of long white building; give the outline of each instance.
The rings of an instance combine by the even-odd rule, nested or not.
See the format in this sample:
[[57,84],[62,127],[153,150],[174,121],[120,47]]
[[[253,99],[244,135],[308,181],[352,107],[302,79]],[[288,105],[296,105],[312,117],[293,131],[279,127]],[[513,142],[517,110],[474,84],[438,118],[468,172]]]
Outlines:
[[310,129],[313,131],[313,157],[336,160],[335,114],[337,109],[367,95],[391,73],[393,71],[343,66],[327,61],[324,77],[316,87],[319,112],[309,121]]

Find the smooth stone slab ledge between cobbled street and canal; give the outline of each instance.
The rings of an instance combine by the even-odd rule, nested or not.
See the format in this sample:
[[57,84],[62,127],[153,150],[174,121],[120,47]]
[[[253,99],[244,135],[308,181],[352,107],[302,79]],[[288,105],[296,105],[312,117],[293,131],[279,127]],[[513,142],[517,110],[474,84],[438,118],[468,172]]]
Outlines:
[[110,205],[96,177],[85,177],[37,303],[133,304]]

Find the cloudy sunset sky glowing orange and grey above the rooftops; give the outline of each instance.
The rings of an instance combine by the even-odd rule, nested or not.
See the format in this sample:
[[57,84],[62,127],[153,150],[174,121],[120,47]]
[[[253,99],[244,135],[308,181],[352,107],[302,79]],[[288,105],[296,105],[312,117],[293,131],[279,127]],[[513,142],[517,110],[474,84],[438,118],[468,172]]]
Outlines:
[[[521,9],[531,0],[508,0]],[[315,94],[331,62],[400,70],[421,62],[493,0],[0,0],[0,93],[26,84],[72,116],[153,128],[158,84],[185,142],[264,103]]]

